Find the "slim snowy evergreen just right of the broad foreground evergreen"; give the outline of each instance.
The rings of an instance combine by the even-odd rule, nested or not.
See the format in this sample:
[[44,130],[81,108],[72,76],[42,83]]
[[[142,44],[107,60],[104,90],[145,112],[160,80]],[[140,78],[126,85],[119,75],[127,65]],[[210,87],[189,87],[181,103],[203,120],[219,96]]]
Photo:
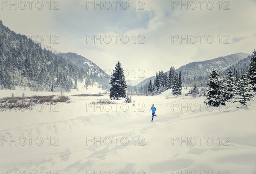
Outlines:
[[226,93],[225,93],[225,98],[227,100],[230,100],[233,98],[236,90],[236,85],[235,85],[236,79],[233,76],[232,70],[228,71],[227,74],[227,84],[226,84]]

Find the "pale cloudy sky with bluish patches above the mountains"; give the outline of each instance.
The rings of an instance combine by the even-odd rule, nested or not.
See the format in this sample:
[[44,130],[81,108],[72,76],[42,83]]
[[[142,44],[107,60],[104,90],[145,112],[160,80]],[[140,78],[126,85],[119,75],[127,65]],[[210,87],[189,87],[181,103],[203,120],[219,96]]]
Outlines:
[[120,61],[128,79],[256,48],[255,0],[0,4],[0,20],[16,33],[37,36],[38,42],[60,52],[78,53],[103,70]]

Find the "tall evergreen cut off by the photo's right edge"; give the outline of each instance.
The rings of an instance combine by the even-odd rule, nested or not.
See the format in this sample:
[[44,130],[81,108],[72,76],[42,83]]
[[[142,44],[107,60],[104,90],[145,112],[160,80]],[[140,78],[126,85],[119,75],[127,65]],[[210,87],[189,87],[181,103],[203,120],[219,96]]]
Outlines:
[[252,84],[253,90],[256,92],[256,51],[253,51],[251,62],[246,72],[249,83]]

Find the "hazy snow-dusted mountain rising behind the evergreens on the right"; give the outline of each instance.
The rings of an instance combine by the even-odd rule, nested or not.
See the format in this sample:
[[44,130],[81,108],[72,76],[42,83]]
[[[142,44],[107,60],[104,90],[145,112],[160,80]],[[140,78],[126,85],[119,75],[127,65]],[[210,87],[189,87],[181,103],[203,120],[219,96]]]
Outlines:
[[[181,71],[183,76],[183,86],[191,86],[192,83],[200,82],[205,83],[209,72],[212,68],[217,69],[220,73],[227,70],[227,68],[236,65],[239,61],[242,61],[250,54],[247,53],[235,53],[228,56],[218,57],[211,60],[205,60],[201,62],[191,62],[189,64],[183,65],[176,69]],[[170,65],[171,66],[171,65]],[[136,87],[141,87],[149,82],[149,80],[154,81],[155,76],[149,77],[144,81],[136,85]]]

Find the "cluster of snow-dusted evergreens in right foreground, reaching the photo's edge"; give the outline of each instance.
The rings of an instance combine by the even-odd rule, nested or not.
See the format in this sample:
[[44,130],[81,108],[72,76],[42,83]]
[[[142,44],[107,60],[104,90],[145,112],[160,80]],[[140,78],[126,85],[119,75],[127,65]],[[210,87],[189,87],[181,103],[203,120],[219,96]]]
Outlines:
[[[235,73],[234,73],[235,72]],[[250,65],[246,72],[238,76],[237,70],[229,70],[224,81],[217,72],[212,70],[207,82],[208,90],[205,104],[218,107],[229,101],[247,105],[256,94],[256,51],[253,51]]]

